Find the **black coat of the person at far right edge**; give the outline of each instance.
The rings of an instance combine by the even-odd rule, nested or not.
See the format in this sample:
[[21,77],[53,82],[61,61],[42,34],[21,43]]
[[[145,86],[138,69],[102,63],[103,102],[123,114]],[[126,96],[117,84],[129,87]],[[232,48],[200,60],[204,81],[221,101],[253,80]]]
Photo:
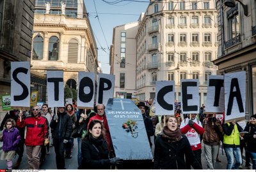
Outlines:
[[253,124],[247,124],[244,131],[248,133],[244,134],[244,139],[247,141],[247,150],[250,152],[256,152],[256,138],[253,135],[256,134],[256,126]]

